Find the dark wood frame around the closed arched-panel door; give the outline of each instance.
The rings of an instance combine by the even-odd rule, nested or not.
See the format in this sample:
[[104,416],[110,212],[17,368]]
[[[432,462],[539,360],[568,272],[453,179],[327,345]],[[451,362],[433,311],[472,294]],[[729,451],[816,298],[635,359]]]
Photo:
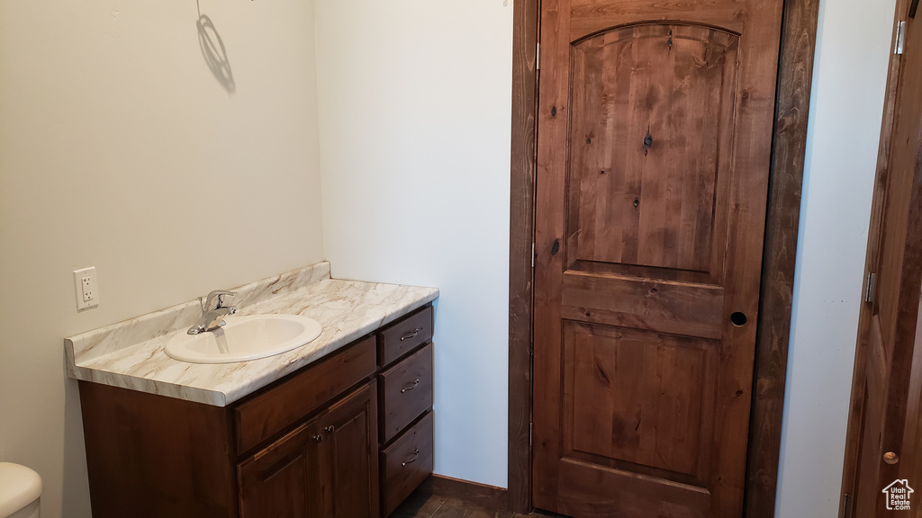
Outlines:
[[[509,510],[531,511],[532,317],[540,0],[513,4],[509,206]],[[775,94],[759,328],[756,337],[746,518],[774,517],[787,346],[819,0],[785,0]]]

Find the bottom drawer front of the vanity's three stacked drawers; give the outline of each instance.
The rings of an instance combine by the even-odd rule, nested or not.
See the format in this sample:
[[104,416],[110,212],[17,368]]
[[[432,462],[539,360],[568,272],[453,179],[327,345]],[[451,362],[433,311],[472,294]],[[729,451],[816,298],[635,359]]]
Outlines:
[[384,516],[432,473],[432,421],[429,412],[381,453]]

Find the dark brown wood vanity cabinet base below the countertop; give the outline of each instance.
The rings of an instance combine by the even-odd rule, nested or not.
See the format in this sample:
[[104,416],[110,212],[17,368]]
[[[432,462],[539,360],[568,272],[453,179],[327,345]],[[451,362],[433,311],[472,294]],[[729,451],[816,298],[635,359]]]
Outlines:
[[228,407],[80,382],[94,518],[377,518],[432,471],[432,309]]

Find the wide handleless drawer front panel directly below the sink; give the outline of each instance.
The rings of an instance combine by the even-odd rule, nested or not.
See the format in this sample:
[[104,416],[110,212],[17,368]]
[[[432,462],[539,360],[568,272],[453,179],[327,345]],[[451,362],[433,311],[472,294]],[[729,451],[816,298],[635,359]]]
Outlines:
[[369,336],[236,406],[237,453],[287,429],[375,370],[374,337]]

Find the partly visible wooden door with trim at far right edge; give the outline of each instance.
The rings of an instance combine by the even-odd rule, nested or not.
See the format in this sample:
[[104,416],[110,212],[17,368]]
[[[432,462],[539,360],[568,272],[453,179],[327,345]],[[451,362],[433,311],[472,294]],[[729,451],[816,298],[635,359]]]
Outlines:
[[[894,57],[894,97],[884,117],[868,269],[875,276],[861,313],[852,413],[846,441],[844,516],[886,516],[896,480],[922,486],[919,412],[922,340],[922,25],[916,2],[897,3],[907,20],[904,53]],[[868,287],[866,287],[867,289]],[[917,490],[917,489],[916,489]],[[918,497],[916,497],[918,500]],[[922,509],[918,501],[914,510]]]

